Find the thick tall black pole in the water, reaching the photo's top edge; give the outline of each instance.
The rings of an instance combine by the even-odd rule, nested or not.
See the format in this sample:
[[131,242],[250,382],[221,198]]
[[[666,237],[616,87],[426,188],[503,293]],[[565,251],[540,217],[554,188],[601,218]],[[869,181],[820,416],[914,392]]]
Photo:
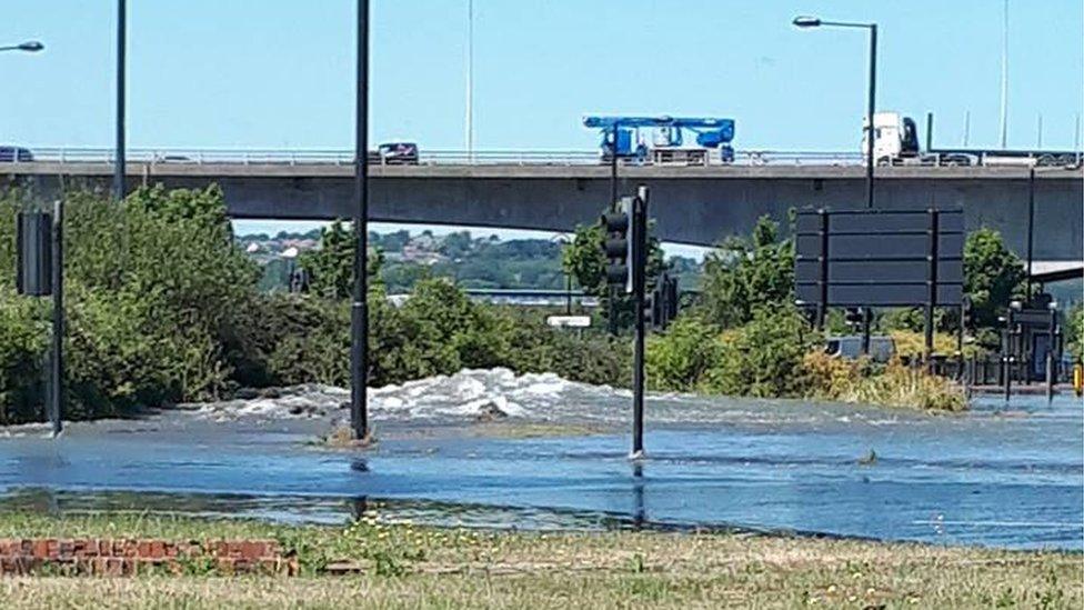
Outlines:
[[357,113],[354,118],[354,286],[350,308],[350,424],[369,436],[369,0],[358,0]]

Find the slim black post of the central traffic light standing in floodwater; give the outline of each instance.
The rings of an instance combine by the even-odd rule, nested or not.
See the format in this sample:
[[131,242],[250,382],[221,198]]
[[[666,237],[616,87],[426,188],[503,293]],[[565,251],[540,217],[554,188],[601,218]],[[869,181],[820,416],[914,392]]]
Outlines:
[[630,458],[643,457],[643,402],[644,402],[644,292],[646,290],[648,267],[648,187],[641,186],[632,201],[632,294],[635,302],[636,327],[633,342],[632,369],[632,453]]

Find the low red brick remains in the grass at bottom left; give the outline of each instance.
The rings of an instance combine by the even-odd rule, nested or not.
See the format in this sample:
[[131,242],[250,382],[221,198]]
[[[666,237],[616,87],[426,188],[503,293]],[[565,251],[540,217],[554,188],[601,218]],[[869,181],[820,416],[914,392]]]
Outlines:
[[24,538],[0,540],[0,574],[132,576],[213,571],[298,573],[297,557],[273,540],[170,542],[149,539]]

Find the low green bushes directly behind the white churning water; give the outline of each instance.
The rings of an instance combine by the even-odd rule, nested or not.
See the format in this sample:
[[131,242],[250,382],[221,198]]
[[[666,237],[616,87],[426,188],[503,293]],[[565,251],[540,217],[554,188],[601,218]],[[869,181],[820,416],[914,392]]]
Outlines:
[[[401,383],[464,368],[506,367],[518,373],[552,371],[574,381],[628,383],[626,340],[548,328],[542,314],[470,301],[443,279],[420,281],[402,307],[382,289],[369,297],[369,382]],[[348,303],[285,297],[275,304],[283,330],[268,350],[275,383],[349,382]]]

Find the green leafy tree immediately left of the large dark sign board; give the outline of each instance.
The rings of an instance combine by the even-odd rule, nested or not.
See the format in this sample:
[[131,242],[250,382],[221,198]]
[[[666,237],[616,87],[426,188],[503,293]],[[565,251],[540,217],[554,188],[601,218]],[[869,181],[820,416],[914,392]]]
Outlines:
[[701,307],[722,328],[747,323],[753,311],[794,301],[794,244],[761,217],[752,237],[723,241],[704,262]]

